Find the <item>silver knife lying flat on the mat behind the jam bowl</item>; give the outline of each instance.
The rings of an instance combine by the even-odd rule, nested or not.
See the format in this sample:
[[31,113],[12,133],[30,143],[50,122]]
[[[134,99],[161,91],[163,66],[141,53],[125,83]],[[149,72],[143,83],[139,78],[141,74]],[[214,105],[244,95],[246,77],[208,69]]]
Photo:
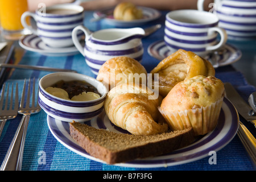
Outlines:
[[24,64],[2,63],[2,64],[0,64],[0,68],[35,69],[35,70],[51,71],[51,72],[74,72],[74,73],[77,73],[77,71],[72,70],[72,69],[51,68],[51,67],[43,67],[43,66],[37,66],[37,65],[24,65]]

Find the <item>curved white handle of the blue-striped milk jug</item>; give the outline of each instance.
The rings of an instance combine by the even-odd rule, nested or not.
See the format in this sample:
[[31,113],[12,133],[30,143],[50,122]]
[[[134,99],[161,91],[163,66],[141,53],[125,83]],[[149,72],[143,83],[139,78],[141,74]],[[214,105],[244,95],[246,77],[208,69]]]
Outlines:
[[75,44],[76,48],[79,50],[79,52],[85,56],[85,53],[84,53],[84,48],[82,47],[81,43],[79,42],[79,39],[77,38],[77,31],[83,31],[84,34],[85,34],[85,40],[86,40],[86,37],[88,38],[91,34],[91,32],[89,31],[88,28],[82,26],[82,25],[79,25],[77,27],[75,27],[72,31],[72,40],[73,40],[73,43]]

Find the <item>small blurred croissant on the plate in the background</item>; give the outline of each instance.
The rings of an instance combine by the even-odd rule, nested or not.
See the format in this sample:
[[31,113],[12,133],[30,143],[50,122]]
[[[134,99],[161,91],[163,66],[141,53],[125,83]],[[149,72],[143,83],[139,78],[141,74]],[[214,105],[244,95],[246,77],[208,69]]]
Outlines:
[[138,9],[133,3],[122,2],[115,6],[114,19],[119,20],[134,20],[141,19],[143,16],[142,10]]

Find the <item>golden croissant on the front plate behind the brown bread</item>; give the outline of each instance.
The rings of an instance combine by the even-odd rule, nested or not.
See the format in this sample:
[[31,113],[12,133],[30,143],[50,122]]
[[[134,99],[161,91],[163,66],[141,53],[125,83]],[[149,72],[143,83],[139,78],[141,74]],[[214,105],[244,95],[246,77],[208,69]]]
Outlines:
[[110,121],[134,135],[152,135],[168,129],[167,123],[157,123],[159,97],[147,86],[123,83],[111,89],[106,96],[104,109]]

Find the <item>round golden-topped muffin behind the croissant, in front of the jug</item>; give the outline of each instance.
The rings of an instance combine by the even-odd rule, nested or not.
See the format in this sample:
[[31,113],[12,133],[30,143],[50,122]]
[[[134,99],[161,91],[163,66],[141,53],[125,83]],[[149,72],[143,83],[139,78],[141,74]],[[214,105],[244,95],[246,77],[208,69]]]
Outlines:
[[119,56],[113,57],[102,64],[96,79],[101,81],[109,90],[125,82],[146,85],[147,71],[137,60],[131,57]]

